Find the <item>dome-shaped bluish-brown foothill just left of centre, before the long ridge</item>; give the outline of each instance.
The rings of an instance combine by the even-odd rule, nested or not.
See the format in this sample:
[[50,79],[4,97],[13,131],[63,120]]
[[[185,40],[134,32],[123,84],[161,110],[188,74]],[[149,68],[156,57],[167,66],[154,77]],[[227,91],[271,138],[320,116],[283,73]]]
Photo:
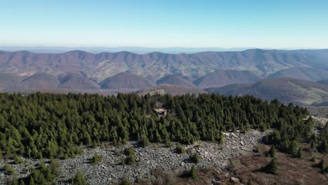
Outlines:
[[104,81],[100,82],[100,85],[103,89],[139,89],[148,88],[153,85],[153,83],[142,76],[123,72],[116,76],[104,79]]

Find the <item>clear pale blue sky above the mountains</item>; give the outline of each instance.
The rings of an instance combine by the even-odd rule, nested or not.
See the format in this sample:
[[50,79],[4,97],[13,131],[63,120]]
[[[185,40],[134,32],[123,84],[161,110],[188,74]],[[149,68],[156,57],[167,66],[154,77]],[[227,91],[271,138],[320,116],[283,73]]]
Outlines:
[[0,0],[0,46],[328,48],[328,1]]

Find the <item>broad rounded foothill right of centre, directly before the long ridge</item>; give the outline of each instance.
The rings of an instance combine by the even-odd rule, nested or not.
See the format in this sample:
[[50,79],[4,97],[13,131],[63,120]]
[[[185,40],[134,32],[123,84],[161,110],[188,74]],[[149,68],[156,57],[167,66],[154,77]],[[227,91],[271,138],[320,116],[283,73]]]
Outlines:
[[260,77],[252,71],[217,70],[198,78],[194,83],[200,88],[219,87],[233,83],[252,83]]

